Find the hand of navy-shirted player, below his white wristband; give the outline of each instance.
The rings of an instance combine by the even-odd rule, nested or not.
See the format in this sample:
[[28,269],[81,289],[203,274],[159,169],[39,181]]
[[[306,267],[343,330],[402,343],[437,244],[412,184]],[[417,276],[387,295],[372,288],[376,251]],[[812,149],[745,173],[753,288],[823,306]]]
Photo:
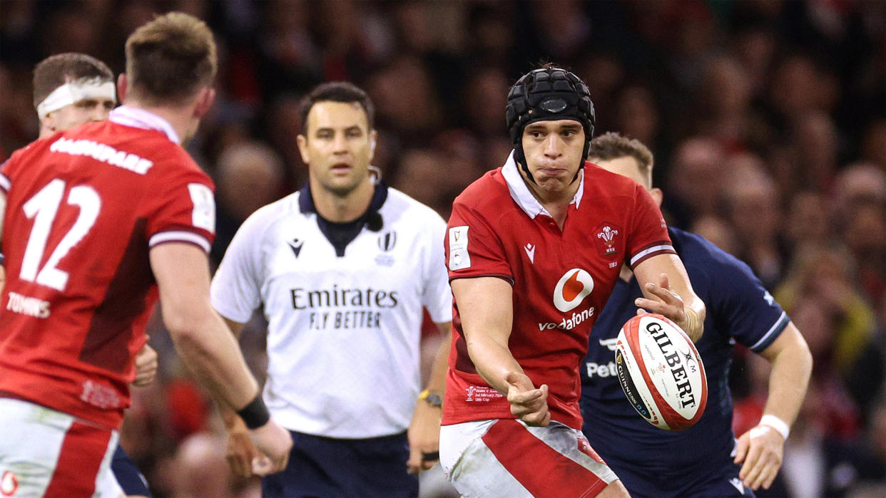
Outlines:
[[781,469],[784,452],[784,439],[768,425],[757,425],[738,438],[735,450],[735,464],[742,464],[738,477],[744,486],[757,491],[759,487],[769,489]]

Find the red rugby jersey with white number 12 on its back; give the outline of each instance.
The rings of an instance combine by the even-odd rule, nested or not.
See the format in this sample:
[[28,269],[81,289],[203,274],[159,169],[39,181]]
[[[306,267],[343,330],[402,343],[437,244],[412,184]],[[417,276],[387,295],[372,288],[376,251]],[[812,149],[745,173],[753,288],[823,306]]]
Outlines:
[[0,168],[0,395],[120,426],[158,297],[148,251],[208,251],[214,237],[213,182],[177,141],[166,120],[121,107]]

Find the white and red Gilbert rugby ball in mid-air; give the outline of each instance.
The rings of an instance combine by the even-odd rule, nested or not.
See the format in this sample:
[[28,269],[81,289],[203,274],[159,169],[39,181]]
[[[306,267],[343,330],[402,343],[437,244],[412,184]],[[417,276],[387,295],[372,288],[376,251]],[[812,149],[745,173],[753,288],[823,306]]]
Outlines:
[[708,402],[702,357],[670,319],[649,313],[627,320],[615,364],[628,402],[649,424],[682,431],[702,418]]

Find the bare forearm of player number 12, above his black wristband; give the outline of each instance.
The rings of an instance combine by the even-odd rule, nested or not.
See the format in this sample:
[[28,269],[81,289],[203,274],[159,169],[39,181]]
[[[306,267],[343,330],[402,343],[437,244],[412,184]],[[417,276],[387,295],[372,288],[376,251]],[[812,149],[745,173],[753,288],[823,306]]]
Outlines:
[[258,383],[221,318],[211,310],[206,314],[198,320],[167,323],[167,327],[179,356],[200,384],[220,404],[239,410],[258,395]]

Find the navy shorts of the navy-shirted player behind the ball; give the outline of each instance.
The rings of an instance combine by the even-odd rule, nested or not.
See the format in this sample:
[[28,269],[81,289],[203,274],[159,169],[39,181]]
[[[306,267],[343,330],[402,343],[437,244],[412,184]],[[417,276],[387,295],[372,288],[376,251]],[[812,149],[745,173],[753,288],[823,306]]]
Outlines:
[[731,458],[710,466],[688,467],[685,471],[680,471],[680,475],[672,476],[645,469],[641,471],[632,468],[630,464],[613,464],[610,460],[607,464],[610,464],[634,498],[756,496],[750,487],[742,484],[742,479],[738,479],[738,471],[742,470],[742,465],[733,464]]

